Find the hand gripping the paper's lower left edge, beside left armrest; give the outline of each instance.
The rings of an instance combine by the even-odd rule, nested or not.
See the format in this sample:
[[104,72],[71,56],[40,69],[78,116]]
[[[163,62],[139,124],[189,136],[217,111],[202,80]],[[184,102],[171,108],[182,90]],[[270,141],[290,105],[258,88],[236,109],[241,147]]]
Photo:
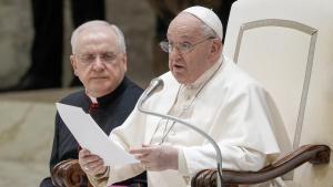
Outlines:
[[103,175],[108,170],[103,159],[98,155],[92,155],[85,148],[79,152],[79,164],[82,170],[90,176]]

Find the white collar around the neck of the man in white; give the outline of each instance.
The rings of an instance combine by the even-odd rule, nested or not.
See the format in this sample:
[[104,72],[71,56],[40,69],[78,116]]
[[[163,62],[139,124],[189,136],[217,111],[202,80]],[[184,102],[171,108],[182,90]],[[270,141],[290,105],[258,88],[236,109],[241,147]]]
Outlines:
[[213,66],[211,66],[209,70],[206,70],[193,83],[184,85],[184,87],[189,89],[189,90],[196,90],[196,89],[199,89],[206,81],[209,81],[210,77],[218,71],[218,69],[221,66],[222,61],[223,61],[223,55],[221,54],[221,58],[218,60],[218,62],[215,62],[215,64]]

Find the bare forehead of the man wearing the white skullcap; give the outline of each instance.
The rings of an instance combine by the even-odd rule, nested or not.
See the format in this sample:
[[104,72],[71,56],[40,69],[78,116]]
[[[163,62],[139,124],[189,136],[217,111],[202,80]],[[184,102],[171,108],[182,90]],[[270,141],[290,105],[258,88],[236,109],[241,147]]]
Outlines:
[[198,39],[203,35],[202,21],[194,15],[182,12],[178,14],[168,28],[167,38],[172,39]]

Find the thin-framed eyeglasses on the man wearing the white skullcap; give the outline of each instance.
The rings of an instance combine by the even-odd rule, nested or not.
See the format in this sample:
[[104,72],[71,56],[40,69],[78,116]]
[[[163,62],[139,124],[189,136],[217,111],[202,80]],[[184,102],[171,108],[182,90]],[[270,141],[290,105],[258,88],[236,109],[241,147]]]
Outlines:
[[214,39],[214,37],[205,38],[205,39],[203,39],[203,40],[201,40],[196,43],[193,43],[193,44],[190,43],[190,42],[172,43],[172,42],[169,42],[169,41],[162,41],[162,42],[160,42],[160,46],[167,53],[172,52],[174,50],[174,48],[176,48],[180,53],[186,54],[186,53],[190,53],[200,43],[203,43],[204,41],[208,41],[208,40],[211,40],[211,39]]

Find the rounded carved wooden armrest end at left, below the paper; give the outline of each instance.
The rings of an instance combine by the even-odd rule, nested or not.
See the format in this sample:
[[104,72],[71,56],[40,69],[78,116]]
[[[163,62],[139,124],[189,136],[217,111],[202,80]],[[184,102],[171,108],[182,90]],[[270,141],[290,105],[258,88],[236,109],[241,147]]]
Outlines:
[[52,168],[51,178],[53,185],[59,187],[80,186],[83,181],[88,181],[88,186],[91,186],[78,159],[65,159],[58,163]]

